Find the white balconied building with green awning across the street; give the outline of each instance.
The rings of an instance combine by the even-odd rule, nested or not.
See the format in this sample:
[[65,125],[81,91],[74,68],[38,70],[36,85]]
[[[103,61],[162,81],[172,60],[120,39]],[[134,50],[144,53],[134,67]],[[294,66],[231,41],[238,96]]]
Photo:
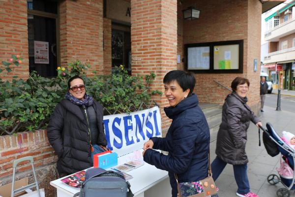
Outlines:
[[275,89],[295,90],[295,0],[287,0],[264,14],[268,68]]

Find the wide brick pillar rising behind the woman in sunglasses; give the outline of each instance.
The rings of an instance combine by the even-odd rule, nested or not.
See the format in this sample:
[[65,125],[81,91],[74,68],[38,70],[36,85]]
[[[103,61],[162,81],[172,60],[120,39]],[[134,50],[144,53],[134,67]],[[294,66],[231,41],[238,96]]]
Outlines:
[[[61,66],[73,60],[90,64],[89,74],[103,74],[103,0],[60,2]],[[83,11],[84,10],[84,11]]]

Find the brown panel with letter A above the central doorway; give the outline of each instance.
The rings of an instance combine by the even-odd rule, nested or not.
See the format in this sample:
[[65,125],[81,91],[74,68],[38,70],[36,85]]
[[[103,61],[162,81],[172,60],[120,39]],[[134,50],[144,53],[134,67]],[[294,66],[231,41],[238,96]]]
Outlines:
[[114,21],[131,23],[131,4],[125,0],[106,0],[106,17]]

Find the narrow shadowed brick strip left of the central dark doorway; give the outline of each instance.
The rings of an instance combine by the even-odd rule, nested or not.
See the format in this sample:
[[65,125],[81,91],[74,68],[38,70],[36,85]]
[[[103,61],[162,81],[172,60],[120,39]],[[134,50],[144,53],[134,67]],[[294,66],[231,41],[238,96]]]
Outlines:
[[103,18],[103,65],[104,74],[112,70],[112,20]]

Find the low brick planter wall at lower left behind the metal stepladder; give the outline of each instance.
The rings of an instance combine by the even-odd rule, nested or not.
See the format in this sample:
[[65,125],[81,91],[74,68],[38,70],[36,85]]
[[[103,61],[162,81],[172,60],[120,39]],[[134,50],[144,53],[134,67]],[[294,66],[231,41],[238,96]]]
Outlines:
[[[32,156],[39,188],[45,188],[47,196],[54,196],[55,190],[50,181],[56,179],[56,161],[58,159],[47,139],[47,131],[20,132],[16,135],[0,136],[0,186],[12,181],[12,162],[15,159]],[[29,162],[17,166],[17,179],[29,177],[32,182],[32,171]]]

